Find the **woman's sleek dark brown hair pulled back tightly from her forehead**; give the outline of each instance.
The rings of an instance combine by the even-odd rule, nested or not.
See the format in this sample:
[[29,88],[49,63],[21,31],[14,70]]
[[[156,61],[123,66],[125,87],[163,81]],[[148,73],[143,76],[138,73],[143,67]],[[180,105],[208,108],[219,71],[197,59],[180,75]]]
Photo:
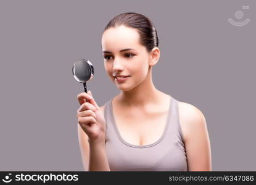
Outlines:
[[[154,24],[145,15],[126,12],[116,15],[109,21],[104,31],[111,27],[125,25],[126,27],[135,28],[140,36],[140,43],[150,52],[154,47],[158,47],[159,39]],[[103,33],[104,33],[103,31]]]

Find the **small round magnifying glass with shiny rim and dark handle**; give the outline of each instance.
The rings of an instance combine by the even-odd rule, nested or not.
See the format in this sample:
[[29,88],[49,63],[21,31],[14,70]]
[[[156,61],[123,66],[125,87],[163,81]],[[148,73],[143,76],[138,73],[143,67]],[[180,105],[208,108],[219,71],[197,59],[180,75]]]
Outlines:
[[76,81],[83,83],[85,92],[87,93],[86,81],[91,80],[94,74],[93,64],[89,60],[76,60],[72,68],[72,73]]

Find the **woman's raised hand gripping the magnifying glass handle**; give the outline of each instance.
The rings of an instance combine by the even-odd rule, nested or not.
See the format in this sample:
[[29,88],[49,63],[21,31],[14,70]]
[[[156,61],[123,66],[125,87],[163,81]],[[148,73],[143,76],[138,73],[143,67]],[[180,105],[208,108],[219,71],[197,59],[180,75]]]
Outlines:
[[76,111],[76,117],[81,128],[88,135],[89,142],[105,142],[104,114],[94,100],[91,91],[81,92],[77,99],[81,106]]

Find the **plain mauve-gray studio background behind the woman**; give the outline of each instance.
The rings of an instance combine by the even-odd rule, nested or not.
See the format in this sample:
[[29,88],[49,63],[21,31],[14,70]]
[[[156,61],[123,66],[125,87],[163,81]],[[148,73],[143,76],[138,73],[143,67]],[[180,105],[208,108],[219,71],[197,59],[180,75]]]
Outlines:
[[[159,35],[156,88],[205,115],[212,170],[255,171],[255,9],[255,1],[234,0],[0,1],[0,170],[83,170],[76,130],[83,84],[72,65],[91,60],[88,89],[99,105],[114,97],[101,34],[115,15],[138,12]],[[228,23],[236,10],[249,24]]]

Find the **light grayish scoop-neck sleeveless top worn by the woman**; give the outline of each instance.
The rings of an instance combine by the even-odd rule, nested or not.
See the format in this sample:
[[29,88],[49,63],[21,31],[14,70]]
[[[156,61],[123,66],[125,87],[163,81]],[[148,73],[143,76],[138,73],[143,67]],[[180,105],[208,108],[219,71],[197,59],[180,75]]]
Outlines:
[[165,130],[152,144],[136,146],[120,136],[112,110],[112,99],[105,103],[104,118],[107,124],[105,148],[110,171],[188,171],[178,101],[173,97],[170,96]]

